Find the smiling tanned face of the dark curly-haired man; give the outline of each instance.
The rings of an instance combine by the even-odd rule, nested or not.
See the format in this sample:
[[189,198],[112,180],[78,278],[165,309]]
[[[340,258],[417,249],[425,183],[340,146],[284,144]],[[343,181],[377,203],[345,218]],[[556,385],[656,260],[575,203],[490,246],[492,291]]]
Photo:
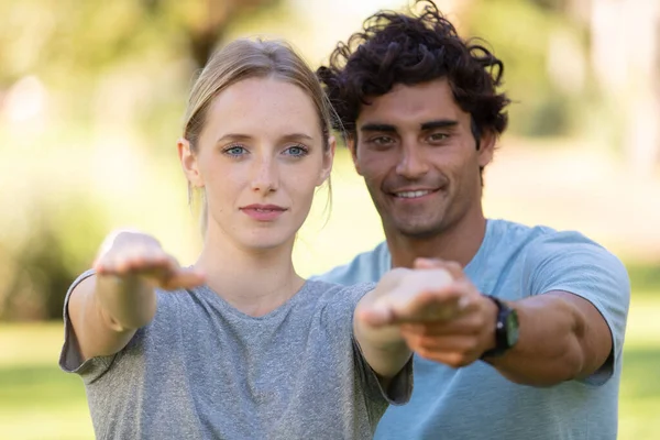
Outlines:
[[369,101],[351,150],[385,230],[428,238],[482,216],[480,167],[491,162],[495,136],[483,133],[476,150],[470,113],[447,79],[396,85]]

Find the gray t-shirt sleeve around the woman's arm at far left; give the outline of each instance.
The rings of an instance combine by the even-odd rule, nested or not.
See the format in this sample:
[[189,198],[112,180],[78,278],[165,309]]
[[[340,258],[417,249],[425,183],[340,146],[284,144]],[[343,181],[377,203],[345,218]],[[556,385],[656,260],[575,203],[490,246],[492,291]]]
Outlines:
[[92,383],[103,375],[112,365],[117,354],[109,356],[97,356],[82,361],[82,354],[78,345],[76,332],[72,326],[68,312],[68,304],[74,288],[86,278],[95,274],[94,271],[87,271],[81,274],[69,287],[64,300],[64,344],[59,353],[59,367],[67,373],[78,374],[86,384]]

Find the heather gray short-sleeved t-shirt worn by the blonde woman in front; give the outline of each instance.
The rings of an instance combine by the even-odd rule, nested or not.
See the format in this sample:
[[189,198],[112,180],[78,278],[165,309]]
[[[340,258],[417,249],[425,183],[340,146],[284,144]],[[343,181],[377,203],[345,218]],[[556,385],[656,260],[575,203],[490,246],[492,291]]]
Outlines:
[[153,321],[112,356],[81,362],[65,302],[59,359],[86,386],[98,439],[371,439],[411,394],[411,362],[384,393],[353,338],[373,284],[308,280],[263,317],[206,286],[157,290]]

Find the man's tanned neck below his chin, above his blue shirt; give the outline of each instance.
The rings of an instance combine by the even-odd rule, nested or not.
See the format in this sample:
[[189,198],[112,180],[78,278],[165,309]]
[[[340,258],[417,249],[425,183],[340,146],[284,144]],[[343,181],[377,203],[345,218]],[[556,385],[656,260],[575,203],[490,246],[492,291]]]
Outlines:
[[435,237],[410,238],[385,230],[393,267],[413,267],[415,258],[453,261],[465,267],[479,252],[486,234],[482,213],[465,218]]

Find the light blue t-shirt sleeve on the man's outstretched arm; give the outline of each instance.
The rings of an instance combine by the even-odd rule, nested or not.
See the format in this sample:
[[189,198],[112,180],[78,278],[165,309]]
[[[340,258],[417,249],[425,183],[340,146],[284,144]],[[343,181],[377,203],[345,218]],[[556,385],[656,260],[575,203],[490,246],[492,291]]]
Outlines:
[[613,349],[605,364],[585,378],[602,385],[620,367],[630,282],[624,264],[607,250],[578,232],[554,232],[532,243],[522,277],[526,293],[568,292],[590,301],[609,327]]

